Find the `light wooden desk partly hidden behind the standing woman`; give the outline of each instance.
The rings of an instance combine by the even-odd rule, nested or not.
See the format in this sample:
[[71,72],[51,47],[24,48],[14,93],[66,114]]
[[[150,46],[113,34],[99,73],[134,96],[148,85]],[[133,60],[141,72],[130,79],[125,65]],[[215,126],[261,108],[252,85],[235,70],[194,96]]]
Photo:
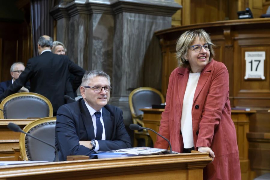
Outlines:
[[[145,127],[151,128],[158,132],[161,121],[161,113],[164,111],[164,109],[140,110],[143,111],[143,123]],[[252,174],[253,172],[250,171],[250,161],[248,159],[248,141],[246,137],[246,134],[249,132],[249,116],[253,113],[256,113],[256,111],[232,110],[231,112],[231,118],[234,122],[237,135],[242,179],[250,179],[250,177],[255,176],[255,174]],[[148,131],[148,133],[153,140],[153,144],[155,144],[157,140],[156,134],[152,131]]]

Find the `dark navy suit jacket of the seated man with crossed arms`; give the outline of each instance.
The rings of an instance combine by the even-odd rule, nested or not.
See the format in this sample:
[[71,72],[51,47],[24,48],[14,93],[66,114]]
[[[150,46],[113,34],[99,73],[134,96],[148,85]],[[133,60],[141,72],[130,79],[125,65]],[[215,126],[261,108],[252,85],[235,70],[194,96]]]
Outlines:
[[[106,105],[102,109],[106,140],[98,140],[99,151],[131,148],[131,139],[125,129],[123,112],[118,107]],[[59,161],[66,161],[68,155],[87,155],[94,151],[79,145],[79,141],[95,139],[94,126],[83,99],[65,104],[57,111],[55,126],[55,147]]]

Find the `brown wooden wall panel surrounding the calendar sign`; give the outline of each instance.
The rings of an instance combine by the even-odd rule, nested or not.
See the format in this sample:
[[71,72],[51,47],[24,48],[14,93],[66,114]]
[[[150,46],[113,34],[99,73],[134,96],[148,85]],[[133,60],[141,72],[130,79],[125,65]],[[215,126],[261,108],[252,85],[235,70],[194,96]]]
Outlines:
[[[235,35],[234,104],[243,107],[268,107],[270,104],[270,35],[269,29],[243,30]],[[264,80],[244,79],[246,51],[265,51]],[[250,101],[252,99],[252,101]]]

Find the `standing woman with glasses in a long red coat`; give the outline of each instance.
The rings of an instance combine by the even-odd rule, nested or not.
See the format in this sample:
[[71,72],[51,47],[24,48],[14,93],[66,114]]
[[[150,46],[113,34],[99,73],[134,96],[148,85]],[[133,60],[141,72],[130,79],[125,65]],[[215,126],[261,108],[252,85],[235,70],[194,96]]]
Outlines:
[[[241,179],[235,126],[231,119],[229,74],[213,60],[210,36],[202,29],[184,32],[177,40],[178,65],[170,75],[159,133],[172,150],[209,152],[213,161],[203,179]],[[168,149],[158,137],[156,148]]]

